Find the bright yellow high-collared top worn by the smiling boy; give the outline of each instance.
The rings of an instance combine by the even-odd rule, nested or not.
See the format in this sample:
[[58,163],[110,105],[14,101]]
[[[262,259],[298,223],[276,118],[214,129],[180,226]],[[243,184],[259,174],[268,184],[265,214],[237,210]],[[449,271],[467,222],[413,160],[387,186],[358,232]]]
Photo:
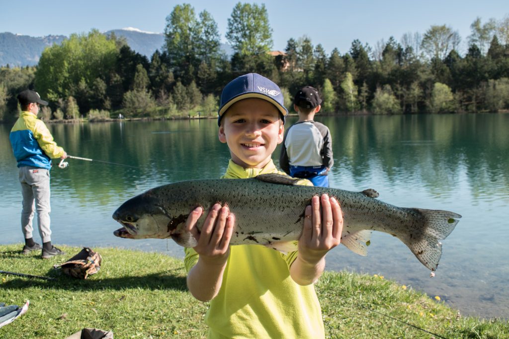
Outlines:
[[[264,168],[243,168],[230,160],[224,179],[280,173],[272,160]],[[310,184],[307,180],[302,184]],[[189,271],[198,261],[185,249]],[[287,255],[262,245],[231,246],[218,295],[205,317],[209,338],[323,338],[322,310],[314,285],[290,276],[297,252]]]

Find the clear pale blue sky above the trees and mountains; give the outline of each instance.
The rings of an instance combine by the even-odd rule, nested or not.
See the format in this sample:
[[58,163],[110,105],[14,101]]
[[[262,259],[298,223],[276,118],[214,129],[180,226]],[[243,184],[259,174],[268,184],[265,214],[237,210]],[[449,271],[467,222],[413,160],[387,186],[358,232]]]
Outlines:
[[[162,33],[166,16],[176,5],[188,3],[194,7],[196,14],[203,10],[212,14],[225,41],[228,18],[238,2],[9,0],[0,5],[0,32],[69,36],[71,33],[90,32],[92,28],[105,32],[135,27]],[[265,4],[273,30],[273,49],[283,50],[288,39],[306,35],[314,45],[321,43],[327,53],[337,47],[342,54],[350,49],[354,39],[374,47],[390,36],[399,41],[404,33],[424,34],[434,24],[451,26],[466,42],[470,24],[477,16],[485,23],[490,18],[501,20],[509,15],[507,0],[271,0],[249,3]]]

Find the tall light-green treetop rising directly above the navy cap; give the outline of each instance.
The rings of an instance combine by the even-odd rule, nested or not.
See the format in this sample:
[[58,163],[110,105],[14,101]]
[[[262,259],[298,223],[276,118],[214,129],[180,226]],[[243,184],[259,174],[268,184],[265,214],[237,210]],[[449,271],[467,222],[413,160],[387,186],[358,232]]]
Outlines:
[[226,38],[242,58],[270,51],[272,29],[265,5],[237,3],[228,19]]

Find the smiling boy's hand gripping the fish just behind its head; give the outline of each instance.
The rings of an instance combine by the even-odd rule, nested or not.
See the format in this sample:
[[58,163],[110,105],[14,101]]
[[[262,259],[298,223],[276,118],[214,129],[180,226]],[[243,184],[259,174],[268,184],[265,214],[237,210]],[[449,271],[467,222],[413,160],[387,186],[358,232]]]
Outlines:
[[200,255],[200,260],[208,264],[223,265],[230,254],[230,239],[235,216],[230,213],[228,205],[221,207],[215,204],[207,215],[202,230],[199,231],[196,222],[202,214],[202,207],[196,207],[189,214],[186,220],[186,231],[190,232],[198,242],[193,248]]

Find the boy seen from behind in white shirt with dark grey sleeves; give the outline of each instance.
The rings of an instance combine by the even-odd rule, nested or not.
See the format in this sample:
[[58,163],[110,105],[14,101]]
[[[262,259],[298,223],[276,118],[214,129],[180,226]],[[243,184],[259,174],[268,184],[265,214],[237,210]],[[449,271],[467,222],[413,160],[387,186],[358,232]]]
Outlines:
[[334,163],[332,138],[327,126],[313,121],[322,99],[314,87],[300,89],[293,101],[299,120],[290,126],[281,145],[279,165],[294,178],[307,179],[315,186],[329,187],[328,173]]

